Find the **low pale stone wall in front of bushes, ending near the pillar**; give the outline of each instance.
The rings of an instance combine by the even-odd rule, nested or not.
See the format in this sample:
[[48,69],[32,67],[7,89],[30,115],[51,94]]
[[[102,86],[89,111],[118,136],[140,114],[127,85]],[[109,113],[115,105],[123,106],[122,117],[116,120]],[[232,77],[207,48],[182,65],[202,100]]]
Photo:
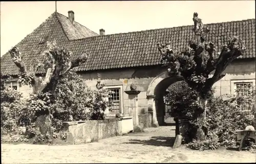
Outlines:
[[[133,127],[132,117],[63,122],[64,130],[67,132],[67,142],[70,144],[90,143],[111,138],[112,136],[122,135],[123,119],[126,122],[130,120],[129,125],[131,124],[131,127]],[[124,130],[133,130],[131,127],[128,126]]]

